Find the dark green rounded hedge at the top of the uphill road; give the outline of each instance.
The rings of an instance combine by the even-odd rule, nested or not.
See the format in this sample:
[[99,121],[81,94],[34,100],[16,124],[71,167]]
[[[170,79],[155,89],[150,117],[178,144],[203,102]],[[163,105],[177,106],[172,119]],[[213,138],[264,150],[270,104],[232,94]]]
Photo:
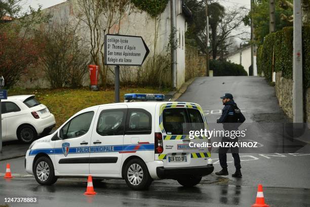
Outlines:
[[210,70],[213,76],[247,76],[248,73],[240,64],[227,62],[224,60],[210,60]]

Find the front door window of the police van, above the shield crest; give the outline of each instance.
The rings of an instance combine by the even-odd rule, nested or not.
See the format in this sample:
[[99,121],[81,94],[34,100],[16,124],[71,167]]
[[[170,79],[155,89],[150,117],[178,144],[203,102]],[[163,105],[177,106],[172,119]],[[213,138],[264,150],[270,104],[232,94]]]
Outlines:
[[90,128],[94,112],[86,112],[72,118],[61,130],[61,138],[71,139],[86,134]]

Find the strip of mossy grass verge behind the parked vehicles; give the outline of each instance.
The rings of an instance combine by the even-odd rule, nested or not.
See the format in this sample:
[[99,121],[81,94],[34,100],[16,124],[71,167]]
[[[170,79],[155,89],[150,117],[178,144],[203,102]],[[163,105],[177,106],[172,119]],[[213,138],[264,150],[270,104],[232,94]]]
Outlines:
[[[169,89],[154,88],[121,88],[121,102],[124,101],[125,93],[166,93]],[[10,89],[8,96],[34,94],[36,99],[43,103],[56,119],[56,128],[68,118],[82,109],[114,102],[114,90],[90,91],[81,89]]]

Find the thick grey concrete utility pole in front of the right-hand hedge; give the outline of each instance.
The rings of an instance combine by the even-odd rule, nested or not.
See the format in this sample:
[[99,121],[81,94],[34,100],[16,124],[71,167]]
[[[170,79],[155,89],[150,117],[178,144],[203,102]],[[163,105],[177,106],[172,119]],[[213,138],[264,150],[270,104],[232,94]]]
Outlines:
[[293,122],[303,122],[301,1],[293,8]]

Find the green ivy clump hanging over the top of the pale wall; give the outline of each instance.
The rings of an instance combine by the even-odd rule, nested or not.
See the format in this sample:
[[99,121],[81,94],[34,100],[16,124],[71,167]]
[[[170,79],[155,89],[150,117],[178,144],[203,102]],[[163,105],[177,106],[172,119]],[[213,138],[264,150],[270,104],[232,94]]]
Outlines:
[[157,17],[166,9],[168,0],[131,0],[131,3],[150,16]]

